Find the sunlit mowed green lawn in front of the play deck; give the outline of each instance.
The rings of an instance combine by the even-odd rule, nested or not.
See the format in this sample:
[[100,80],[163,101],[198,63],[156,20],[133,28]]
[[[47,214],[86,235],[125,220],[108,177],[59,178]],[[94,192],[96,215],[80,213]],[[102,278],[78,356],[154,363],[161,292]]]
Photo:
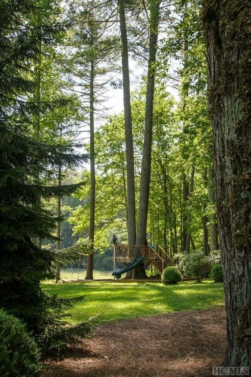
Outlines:
[[[145,285],[144,285],[145,284]],[[85,296],[71,309],[70,321],[80,322],[100,315],[103,322],[151,316],[181,310],[196,310],[224,305],[222,283],[181,282],[175,286],[160,283],[43,283],[50,295]]]

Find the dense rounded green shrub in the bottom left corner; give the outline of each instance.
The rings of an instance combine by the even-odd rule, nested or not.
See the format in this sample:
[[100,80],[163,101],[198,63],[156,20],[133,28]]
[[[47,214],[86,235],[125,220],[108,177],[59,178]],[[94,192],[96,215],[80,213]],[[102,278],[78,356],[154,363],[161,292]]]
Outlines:
[[39,377],[41,369],[37,344],[25,325],[0,310],[0,376]]

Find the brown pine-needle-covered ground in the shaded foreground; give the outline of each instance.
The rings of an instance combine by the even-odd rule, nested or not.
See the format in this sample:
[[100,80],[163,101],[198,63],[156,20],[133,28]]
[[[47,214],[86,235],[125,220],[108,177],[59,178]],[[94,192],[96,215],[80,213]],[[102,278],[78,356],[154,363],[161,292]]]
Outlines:
[[101,324],[46,362],[46,377],[211,377],[226,341],[223,308]]

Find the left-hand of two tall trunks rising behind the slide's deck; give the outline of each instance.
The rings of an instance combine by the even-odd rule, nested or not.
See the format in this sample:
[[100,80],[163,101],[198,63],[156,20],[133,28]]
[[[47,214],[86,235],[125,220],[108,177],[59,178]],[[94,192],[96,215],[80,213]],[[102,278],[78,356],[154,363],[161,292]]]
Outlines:
[[125,112],[125,138],[126,138],[126,175],[127,175],[127,207],[128,243],[134,245],[136,241],[136,210],[135,210],[135,178],[134,178],[134,152],[132,138],[132,120],[130,103],[130,77],[128,65],[128,45],[126,33],[126,16],[124,0],[118,0],[120,14],[120,32],[122,43],[122,73]]

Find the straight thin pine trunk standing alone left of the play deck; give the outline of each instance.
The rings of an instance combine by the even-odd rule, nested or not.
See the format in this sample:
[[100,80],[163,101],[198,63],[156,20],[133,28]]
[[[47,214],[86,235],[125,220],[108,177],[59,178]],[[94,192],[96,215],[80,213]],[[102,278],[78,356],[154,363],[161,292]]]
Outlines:
[[85,279],[93,279],[93,249],[94,249],[94,231],[95,231],[95,144],[94,144],[94,62],[91,61],[90,71],[90,223],[89,223],[89,240],[90,254],[87,257],[87,269]]

